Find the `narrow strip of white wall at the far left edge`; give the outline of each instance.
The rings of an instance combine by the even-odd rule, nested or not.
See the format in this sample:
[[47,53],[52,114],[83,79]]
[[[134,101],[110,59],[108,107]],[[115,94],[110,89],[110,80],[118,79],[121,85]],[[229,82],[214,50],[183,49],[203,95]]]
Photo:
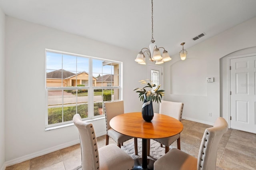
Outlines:
[[4,100],[4,31],[5,31],[5,14],[0,8],[0,169],[5,162],[5,100]]

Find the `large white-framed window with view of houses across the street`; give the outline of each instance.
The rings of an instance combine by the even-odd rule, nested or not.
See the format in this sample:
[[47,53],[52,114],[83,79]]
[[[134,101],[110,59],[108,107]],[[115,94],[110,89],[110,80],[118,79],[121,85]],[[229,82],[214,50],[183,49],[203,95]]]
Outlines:
[[[105,101],[120,99],[121,63],[46,50],[46,127],[104,116]],[[111,86],[109,86],[111,84]]]

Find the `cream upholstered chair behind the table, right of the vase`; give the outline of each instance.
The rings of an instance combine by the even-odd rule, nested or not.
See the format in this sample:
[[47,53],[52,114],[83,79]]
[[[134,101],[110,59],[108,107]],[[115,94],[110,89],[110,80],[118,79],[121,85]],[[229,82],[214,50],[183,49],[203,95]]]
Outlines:
[[[182,119],[182,111],[183,111],[184,104],[179,102],[172,102],[172,101],[161,101],[159,113],[168,115],[173,117],[179,121]],[[172,128],[172,127],[170,127]],[[177,140],[177,148],[180,150],[180,133],[176,134],[175,136],[171,136],[168,138],[159,138],[154,139],[162,145],[165,146],[165,153],[169,151],[169,146]],[[149,140],[148,140],[149,141]],[[148,144],[148,156],[150,154],[150,144]]]

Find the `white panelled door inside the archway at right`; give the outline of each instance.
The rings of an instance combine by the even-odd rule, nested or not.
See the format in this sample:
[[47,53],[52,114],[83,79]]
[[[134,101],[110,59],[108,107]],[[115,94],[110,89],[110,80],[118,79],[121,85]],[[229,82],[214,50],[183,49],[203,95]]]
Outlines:
[[230,127],[256,133],[256,55],[230,59]]

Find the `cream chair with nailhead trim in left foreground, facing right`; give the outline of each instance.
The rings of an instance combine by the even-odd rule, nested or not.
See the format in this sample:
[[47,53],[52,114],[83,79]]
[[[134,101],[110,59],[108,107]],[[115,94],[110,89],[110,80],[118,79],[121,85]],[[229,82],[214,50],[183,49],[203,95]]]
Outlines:
[[74,115],[73,122],[80,138],[82,170],[131,170],[134,167],[133,158],[115,144],[98,149],[92,123],[83,122],[79,114]]

